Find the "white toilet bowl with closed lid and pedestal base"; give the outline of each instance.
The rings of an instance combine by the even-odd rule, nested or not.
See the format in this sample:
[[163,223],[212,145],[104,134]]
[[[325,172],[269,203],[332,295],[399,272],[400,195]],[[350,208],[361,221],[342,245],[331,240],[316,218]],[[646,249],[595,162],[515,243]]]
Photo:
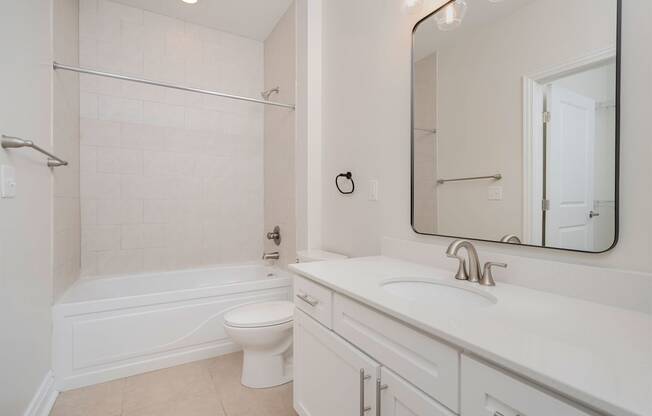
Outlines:
[[244,305],[224,315],[224,329],[243,350],[242,384],[268,388],[292,381],[294,304]]

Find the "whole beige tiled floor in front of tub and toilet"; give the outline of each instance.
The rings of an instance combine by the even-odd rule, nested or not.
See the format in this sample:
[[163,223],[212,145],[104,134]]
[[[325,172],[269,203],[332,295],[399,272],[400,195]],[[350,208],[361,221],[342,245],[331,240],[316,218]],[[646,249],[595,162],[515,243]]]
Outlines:
[[292,383],[240,384],[242,353],[61,393],[50,416],[296,416]]

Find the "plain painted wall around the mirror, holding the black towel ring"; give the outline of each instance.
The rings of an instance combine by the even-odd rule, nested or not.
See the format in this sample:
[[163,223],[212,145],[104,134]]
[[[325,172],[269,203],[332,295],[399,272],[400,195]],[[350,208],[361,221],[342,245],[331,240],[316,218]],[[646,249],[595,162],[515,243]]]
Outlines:
[[[652,3],[623,3],[622,221],[618,246],[599,255],[507,246],[495,246],[496,250],[652,271],[648,139],[652,54],[647,42],[652,38]],[[428,2],[427,7],[432,10],[433,5]],[[324,249],[361,256],[379,253],[382,236],[446,241],[417,236],[410,228],[411,29],[425,13],[402,14],[400,0],[324,2]],[[332,183],[342,170],[351,170],[357,179],[358,191],[352,197],[339,195]],[[380,179],[380,201],[370,202],[367,181],[375,178]],[[479,246],[482,249],[485,244]]]

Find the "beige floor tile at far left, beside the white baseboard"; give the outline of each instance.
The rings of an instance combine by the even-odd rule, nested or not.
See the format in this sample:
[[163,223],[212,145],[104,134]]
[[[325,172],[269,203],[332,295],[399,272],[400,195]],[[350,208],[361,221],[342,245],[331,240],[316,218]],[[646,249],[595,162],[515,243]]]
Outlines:
[[124,385],[121,379],[63,392],[50,416],[120,416]]

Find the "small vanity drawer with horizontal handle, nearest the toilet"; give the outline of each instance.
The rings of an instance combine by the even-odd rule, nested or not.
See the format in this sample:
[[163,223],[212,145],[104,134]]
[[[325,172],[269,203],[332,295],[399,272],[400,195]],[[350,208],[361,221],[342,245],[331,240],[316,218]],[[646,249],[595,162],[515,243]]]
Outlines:
[[326,327],[333,328],[333,292],[301,276],[294,279],[294,304]]

